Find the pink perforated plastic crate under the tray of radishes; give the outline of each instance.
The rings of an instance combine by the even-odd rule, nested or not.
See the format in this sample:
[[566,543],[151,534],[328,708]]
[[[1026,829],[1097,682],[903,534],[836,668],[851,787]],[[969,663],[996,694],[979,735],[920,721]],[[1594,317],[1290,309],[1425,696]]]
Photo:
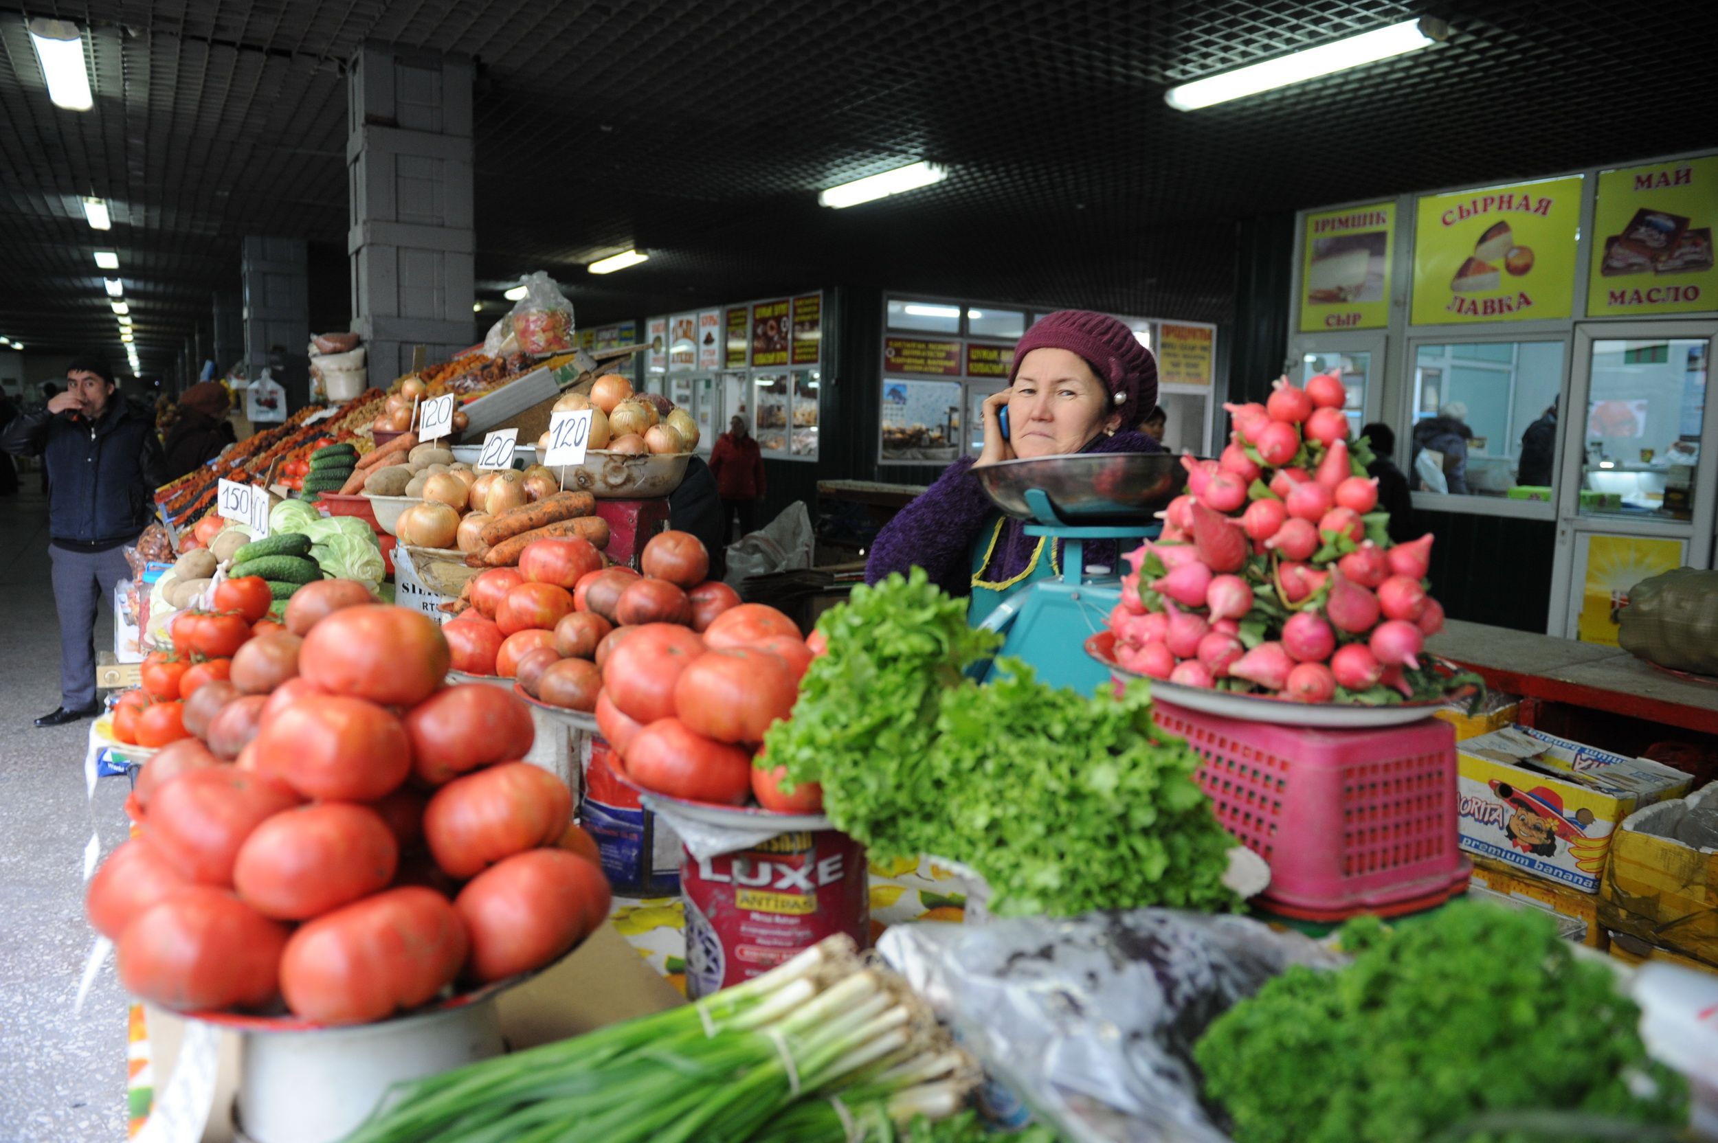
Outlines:
[[1156,721],[1204,759],[1197,779],[1218,820],[1270,863],[1263,908],[1306,920],[1412,913],[1467,887],[1448,723],[1328,731],[1168,702]]

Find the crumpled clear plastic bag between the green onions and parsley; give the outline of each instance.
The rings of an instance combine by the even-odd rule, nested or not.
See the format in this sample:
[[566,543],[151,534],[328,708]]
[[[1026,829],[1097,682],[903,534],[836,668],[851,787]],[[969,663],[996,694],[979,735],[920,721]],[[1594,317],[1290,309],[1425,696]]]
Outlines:
[[1228,1143],[1199,1100],[1192,1045],[1290,965],[1343,958],[1246,916],[1175,910],[897,925],[878,947],[1003,1086],[1072,1143]]

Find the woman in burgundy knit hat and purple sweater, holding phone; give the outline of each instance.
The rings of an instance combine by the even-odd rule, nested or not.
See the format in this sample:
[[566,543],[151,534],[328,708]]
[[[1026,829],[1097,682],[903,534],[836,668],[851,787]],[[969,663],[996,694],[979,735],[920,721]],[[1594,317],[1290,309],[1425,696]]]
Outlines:
[[[969,596],[967,616],[979,623],[1020,585],[1055,578],[1062,542],[1026,535],[1024,522],[996,510],[972,469],[1067,453],[1163,451],[1124,427],[1139,424],[1156,400],[1158,362],[1120,321],[1077,309],[1039,319],[1014,348],[1008,388],[984,402],[984,451],[948,465],[878,532],[866,582],[917,565],[950,596]],[[1115,568],[1115,541],[1087,542],[1086,565]]]

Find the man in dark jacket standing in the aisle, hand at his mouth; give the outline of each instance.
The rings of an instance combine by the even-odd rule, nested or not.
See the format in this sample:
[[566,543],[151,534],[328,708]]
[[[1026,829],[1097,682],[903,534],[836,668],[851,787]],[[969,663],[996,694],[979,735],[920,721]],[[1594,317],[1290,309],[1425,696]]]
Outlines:
[[108,367],[76,360],[65,391],[41,412],[14,417],[0,450],[43,458],[48,477],[48,556],[60,613],[60,705],[36,726],[62,726],[100,712],[94,626],[100,601],[131,570],[125,544],[148,525],[163,481],[155,422],[120,396]]

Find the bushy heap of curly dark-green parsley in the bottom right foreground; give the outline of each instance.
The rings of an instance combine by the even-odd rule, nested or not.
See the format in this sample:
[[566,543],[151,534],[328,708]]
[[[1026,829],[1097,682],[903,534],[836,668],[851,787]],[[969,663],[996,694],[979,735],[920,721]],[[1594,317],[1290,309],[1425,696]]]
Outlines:
[[1393,932],[1349,922],[1342,944],[1349,968],[1290,968],[1196,1045],[1239,1143],[1541,1138],[1477,1119],[1514,1109],[1684,1121],[1685,1086],[1648,1061],[1634,1002],[1548,916],[1457,903]]

